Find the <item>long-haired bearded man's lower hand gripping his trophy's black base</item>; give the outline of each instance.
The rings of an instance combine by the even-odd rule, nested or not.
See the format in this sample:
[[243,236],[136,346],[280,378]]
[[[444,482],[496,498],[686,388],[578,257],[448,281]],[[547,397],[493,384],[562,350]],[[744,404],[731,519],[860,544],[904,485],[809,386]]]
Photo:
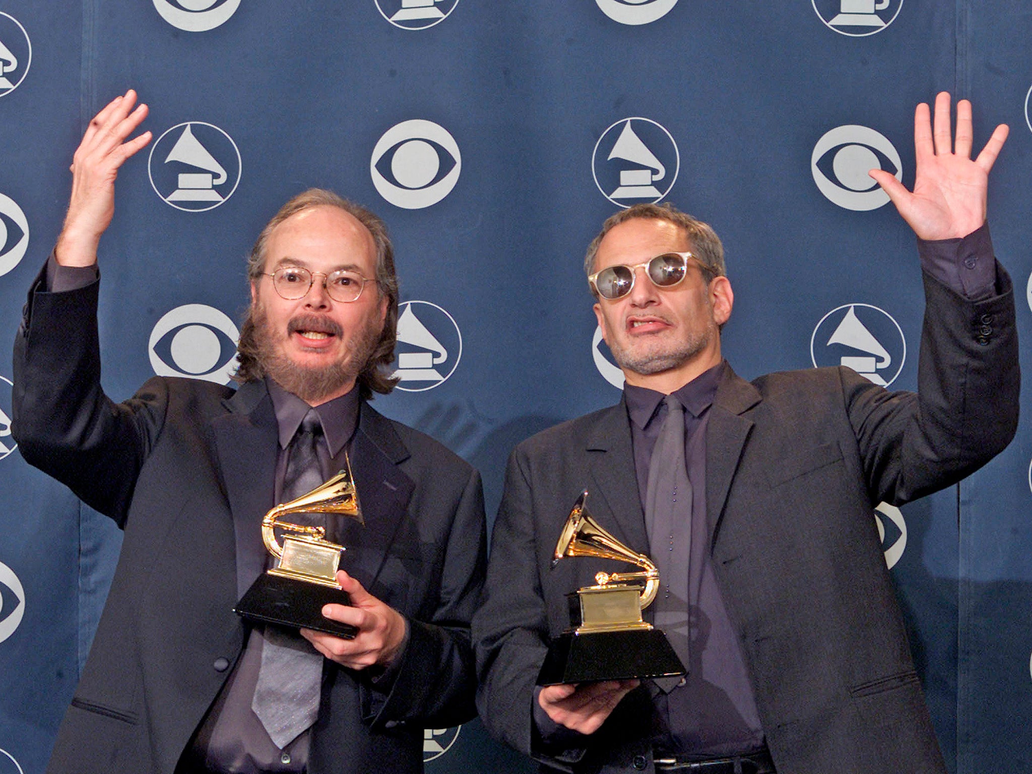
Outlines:
[[302,628],[301,636],[327,658],[350,669],[386,667],[405,641],[406,622],[394,608],[380,602],[343,570],[336,582],[351,596],[351,606],[326,605],[323,615],[358,627],[354,640]]

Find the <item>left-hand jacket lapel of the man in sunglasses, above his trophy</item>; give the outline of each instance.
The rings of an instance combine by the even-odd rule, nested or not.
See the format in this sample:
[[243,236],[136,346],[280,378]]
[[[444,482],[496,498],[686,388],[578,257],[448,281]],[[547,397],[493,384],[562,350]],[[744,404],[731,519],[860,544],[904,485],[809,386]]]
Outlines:
[[586,450],[594,485],[593,489],[588,485],[588,513],[625,545],[648,553],[631,424],[622,399],[601,414],[588,434]]

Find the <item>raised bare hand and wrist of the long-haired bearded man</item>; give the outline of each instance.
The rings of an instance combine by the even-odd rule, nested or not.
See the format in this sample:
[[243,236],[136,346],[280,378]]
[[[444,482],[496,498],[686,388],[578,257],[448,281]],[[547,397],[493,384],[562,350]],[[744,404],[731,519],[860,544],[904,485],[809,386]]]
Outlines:
[[115,215],[115,179],[126,159],[151,141],[151,132],[127,140],[147,118],[130,89],[98,112],[83,135],[71,164],[71,198],[55,256],[67,266],[97,261],[97,246]]

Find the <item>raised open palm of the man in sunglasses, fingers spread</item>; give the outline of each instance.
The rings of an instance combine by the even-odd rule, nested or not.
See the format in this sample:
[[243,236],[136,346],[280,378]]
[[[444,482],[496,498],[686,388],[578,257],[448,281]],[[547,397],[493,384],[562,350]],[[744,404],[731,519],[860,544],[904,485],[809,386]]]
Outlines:
[[922,102],[913,117],[913,143],[917,161],[913,193],[883,169],[869,174],[889,194],[910,228],[923,239],[967,236],[986,222],[989,170],[1003,148],[1009,129],[996,127],[977,158],[971,159],[974,133],[971,103],[957,103],[957,138],[949,120],[949,94],[935,97],[935,128],[928,104]]

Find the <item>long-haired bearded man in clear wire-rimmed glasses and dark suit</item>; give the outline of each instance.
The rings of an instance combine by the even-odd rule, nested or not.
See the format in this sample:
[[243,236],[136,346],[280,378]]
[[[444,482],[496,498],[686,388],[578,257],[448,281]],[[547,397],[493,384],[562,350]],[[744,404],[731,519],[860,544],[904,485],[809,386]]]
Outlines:
[[[125,530],[50,770],[422,771],[423,730],[474,714],[483,494],[469,464],[367,402],[396,381],[384,224],[328,191],[294,197],[249,259],[239,388],[155,378],[115,404],[96,261],[116,174],[151,138],[130,139],[147,115],[135,96],[101,110],[75,153],[14,348],[23,455]],[[263,515],[349,459],[364,526],[311,525],[347,546],[351,606],[322,614],[354,639],[245,623],[232,611],[268,565]]]

